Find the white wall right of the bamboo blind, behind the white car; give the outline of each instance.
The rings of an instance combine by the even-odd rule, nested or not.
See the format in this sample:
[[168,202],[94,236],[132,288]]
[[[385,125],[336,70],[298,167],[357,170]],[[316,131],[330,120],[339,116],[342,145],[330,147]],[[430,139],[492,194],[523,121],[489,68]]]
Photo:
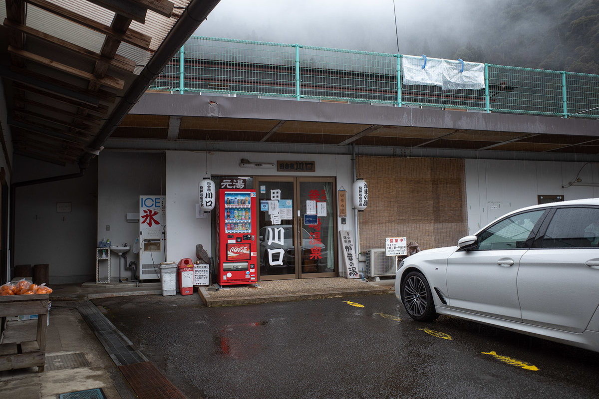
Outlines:
[[599,185],[596,163],[476,159],[465,163],[471,234],[508,212],[536,205],[538,195],[562,195],[565,200],[599,197],[599,187],[562,188],[579,171],[582,182]]

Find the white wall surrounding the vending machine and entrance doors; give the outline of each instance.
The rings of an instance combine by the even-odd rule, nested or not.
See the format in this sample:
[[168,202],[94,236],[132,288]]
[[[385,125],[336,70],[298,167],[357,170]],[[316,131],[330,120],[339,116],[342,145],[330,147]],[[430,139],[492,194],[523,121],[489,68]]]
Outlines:
[[[316,173],[309,176],[337,176],[337,189],[347,190],[347,224],[337,220],[338,229],[353,230],[352,212],[352,160],[349,155],[317,154],[267,154],[267,153],[213,153],[192,151],[167,151],[167,260],[179,261],[182,258],[195,260],[195,246],[204,245],[211,254],[210,217],[195,218],[195,204],[198,203],[198,183],[208,170],[210,175],[230,176],[298,176],[299,173],[277,172],[276,169],[244,169],[240,160],[276,163],[277,160],[314,160]],[[306,175],[306,174],[304,174]],[[335,240],[338,237],[335,236]],[[340,263],[340,258],[338,260]],[[343,269],[343,267],[341,268]],[[341,270],[343,272],[343,270]]]

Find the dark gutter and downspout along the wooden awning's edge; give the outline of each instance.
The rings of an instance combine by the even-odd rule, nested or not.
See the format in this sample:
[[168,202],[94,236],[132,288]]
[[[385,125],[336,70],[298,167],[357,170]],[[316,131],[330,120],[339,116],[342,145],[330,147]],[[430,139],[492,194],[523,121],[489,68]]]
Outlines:
[[[150,61],[146,64],[146,67],[141,71],[140,76],[131,84],[129,90],[125,93],[120,102],[114,107],[113,112],[108,117],[107,121],[98,131],[96,138],[89,145],[91,150],[89,153],[83,154],[79,160],[80,172],[71,173],[69,175],[54,176],[49,178],[35,179],[29,181],[22,181],[11,184],[10,186],[10,267],[14,267],[14,212],[15,212],[15,198],[16,188],[24,187],[26,185],[42,184],[66,179],[73,179],[83,176],[83,173],[89,166],[92,157],[97,155],[102,150],[102,145],[114,132],[120,122],[125,118],[125,115],[131,111],[131,108],[138,102],[141,96],[146,92],[147,88],[162,72],[167,63],[173,58],[175,53],[179,51],[183,44],[189,39],[189,36],[198,29],[198,26],[204,22],[211,13],[214,7],[219,3],[220,0],[191,0],[187,5],[179,20],[173,26],[173,29],[168,33],[167,37],[164,38],[162,44],[158,47]],[[95,153],[92,156],[92,153]]]

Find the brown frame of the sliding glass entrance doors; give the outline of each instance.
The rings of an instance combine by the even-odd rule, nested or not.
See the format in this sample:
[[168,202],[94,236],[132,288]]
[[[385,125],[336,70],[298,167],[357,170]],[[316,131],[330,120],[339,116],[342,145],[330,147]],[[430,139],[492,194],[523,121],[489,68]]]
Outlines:
[[[299,183],[300,182],[331,182],[332,183],[332,188],[333,190],[331,193],[331,204],[332,204],[332,213],[333,213],[333,234],[334,234],[334,245],[333,245],[333,249],[332,251],[330,249],[327,249],[328,254],[327,256],[333,256],[334,259],[334,271],[333,272],[326,272],[326,273],[302,273],[301,272],[301,257],[295,257],[295,274],[293,275],[269,275],[269,276],[262,276],[261,275],[261,270],[259,267],[257,267],[258,269],[258,281],[271,281],[271,280],[295,280],[295,279],[308,279],[308,278],[326,278],[326,277],[336,277],[339,275],[339,268],[338,268],[338,258],[337,258],[337,196],[335,196],[335,193],[337,192],[337,178],[335,176],[253,176],[253,185],[255,187],[256,190],[256,197],[259,198],[259,185],[261,182],[293,182],[294,183],[294,219],[296,222],[296,230],[295,230],[295,240],[294,240],[294,246],[295,246],[295,253],[299,253],[299,247],[300,247],[300,242],[301,242],[301,237],[302,237],[302,217],[301,215],[297,215],[297,212],[299,210]],[[256,215],[258,215],[258,212],[260,212],[260,201],[257,200],[256,201]],[[259,218],[258,218],[259,221]],[[256,227],[257,230],[260,230],[260,226]],[[258,251],[260,252],[260,251]],[[258,253],[258,264],[260,264],[262,258],[262,254]]]

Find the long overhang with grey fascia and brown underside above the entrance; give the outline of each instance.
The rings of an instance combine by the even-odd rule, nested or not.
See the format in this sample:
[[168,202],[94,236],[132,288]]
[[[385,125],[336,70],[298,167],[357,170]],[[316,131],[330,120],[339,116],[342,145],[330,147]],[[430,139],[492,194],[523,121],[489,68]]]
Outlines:
[[146,93],[106,148],[599,161],[599,121]]

